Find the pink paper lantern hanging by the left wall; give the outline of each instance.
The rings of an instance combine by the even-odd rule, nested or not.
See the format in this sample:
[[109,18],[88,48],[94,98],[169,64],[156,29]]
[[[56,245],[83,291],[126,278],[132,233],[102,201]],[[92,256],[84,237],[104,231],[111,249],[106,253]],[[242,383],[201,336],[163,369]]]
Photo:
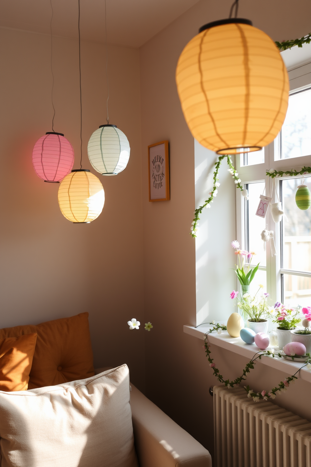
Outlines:
[[36,174],[45,182],[59,183],[73,167],[73,147],[62,133],[48,132],[38,139],[32,153]]

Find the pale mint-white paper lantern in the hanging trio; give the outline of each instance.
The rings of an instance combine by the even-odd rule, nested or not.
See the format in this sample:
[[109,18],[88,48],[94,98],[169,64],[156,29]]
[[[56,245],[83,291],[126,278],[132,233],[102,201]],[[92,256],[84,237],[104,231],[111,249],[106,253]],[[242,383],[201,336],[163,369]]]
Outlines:
[[117,175],[130,158],[130,144],[115,125],[101,125],[88,143],[90,163],[102,175]]

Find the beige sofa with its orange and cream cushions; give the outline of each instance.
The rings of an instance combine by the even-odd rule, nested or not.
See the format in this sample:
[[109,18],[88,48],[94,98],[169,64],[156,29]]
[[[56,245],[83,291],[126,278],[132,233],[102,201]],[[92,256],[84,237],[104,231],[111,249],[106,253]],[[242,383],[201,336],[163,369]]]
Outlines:
[[125,364],[94,370],[88,313],[0,329],[0,451],[1,467],[212,466]]

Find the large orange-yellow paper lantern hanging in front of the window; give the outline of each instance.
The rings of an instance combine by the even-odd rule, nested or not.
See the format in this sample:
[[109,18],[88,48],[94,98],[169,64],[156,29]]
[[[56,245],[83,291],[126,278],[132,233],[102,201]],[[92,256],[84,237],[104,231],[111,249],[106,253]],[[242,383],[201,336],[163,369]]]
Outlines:
[[191,133],[217,154],[260,150],[283,125],[287,71],[275,43],[249,20],[202,26],[180,55],[176,83]]

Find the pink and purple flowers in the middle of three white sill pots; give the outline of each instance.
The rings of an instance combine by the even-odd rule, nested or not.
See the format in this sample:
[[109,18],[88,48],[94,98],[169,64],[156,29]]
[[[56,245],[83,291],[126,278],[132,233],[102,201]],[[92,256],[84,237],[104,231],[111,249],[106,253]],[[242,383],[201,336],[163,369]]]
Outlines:
[[291,331],[296,329],[300,318],[298,317],[301,306],[297,308],[286,308],[282,303],[276,302],[270,314],[273,316],[272,322],[277,324],[276,335],[280,349],[291,342]]

